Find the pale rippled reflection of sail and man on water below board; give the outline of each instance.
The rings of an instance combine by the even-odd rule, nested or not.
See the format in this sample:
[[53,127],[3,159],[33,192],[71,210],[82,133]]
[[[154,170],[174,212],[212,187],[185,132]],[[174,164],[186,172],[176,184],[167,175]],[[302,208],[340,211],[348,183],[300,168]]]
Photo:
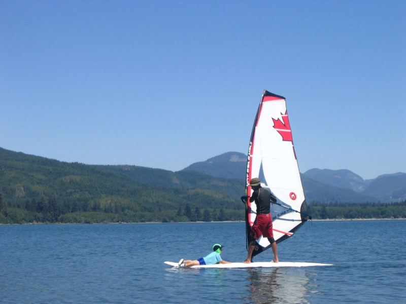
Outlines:
[[288,268],[249,269],[250,303],[308,303],[309,278],[304,270]]

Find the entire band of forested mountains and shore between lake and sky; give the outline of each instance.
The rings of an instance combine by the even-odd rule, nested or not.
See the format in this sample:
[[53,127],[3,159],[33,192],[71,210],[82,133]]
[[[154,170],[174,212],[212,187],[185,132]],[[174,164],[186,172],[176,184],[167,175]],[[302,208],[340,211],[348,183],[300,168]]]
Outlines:
[[[307,201],[320,217],[361,214],[324,212],[320,204],[342,208],[343,203],[401,202],[405,198],[404,173],[364,181],[361,193],[352,189],[359,190],[361,181],[351,171],[310,171],[302,174],[302,181]],[[65,163],[0,148],[0,223],[243,220],[245,207],[240,196],[245,172],[245,155],[235,152],[172,172]],[[400,204],[385,212],[371,207],[375,209],[360,216],[402,216],[399,210],[406,208],[404,202]]]

